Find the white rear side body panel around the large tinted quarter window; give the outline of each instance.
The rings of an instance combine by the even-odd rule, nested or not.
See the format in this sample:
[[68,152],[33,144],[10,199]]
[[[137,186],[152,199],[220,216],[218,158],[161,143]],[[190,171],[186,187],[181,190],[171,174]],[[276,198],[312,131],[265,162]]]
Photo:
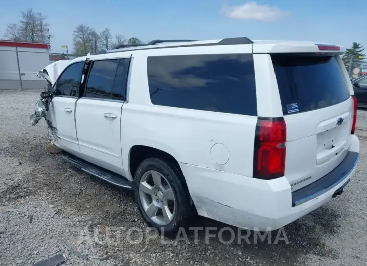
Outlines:
[[[128,102],[122,107],[123,158],[129,158],[134,145],[144,145],[167,152],[183,164],[252,176],[256,116],[153,105],[147,79],[148,56],[251,54],[251,45],[138,52],[136,57],[133,53]],[[128,160],[124,160],[124,169],[129,169]],[[132,179],[131,173],[127,177]],[[186,181],[189,189],[195,182],[190,176]]]

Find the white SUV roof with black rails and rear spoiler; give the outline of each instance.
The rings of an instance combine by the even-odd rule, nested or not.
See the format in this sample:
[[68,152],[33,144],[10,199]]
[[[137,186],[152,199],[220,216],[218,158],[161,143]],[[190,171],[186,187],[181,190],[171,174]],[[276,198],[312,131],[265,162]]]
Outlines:
[[[153,44],[150,44],[153,43]],[[147,45],[112,49],[100,52],[96,55],[88,56],[89,58],[103,58],[106,54],[119,53],[118,55],[127,54],[144,54],[149,53],[149,50],[164,49],[164,48],[184,48],[184,47],[213,47],[226,45],[249,45],[252,44],[253,53],[325,53],[325,54],[341,54],[345,52],[344,47],[324,42],[305,42],[305,41],[285,41],[285,40],[250,40],[247,37],[225,38],[218,40],[205,41],[184,41],[181,40],[154,40]],[[323,48],[321,48],[323,47]],[[328,49],[330,48],[330,49]],[[120,54],[121,53],[121,54]],[[109,56],[110,57],[110,56]],[[86,57],[85,57],[86,58]],[[80,61],[80,57],[73,61]]]

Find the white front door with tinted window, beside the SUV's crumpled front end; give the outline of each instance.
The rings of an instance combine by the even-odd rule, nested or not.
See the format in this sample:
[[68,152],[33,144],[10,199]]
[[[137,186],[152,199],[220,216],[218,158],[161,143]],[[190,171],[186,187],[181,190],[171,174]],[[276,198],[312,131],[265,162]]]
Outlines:
[[56,146],[70,153],[79,152],[75,127],[75,107],[84,61],[69,65],[59,76],[53,89],[48,112],[50,135]]

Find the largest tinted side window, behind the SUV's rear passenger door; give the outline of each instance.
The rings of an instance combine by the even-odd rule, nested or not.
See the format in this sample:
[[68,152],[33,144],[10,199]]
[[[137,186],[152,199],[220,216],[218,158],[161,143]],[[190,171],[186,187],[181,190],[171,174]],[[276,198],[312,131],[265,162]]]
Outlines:
[[155,105],[257,115],[252,54],[148,57]]

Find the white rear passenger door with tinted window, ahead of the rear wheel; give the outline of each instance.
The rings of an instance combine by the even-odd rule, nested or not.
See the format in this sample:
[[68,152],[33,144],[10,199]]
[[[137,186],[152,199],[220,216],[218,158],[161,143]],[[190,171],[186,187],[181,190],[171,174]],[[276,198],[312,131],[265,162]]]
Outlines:
[[124,173],[120,134],[129,62],[130,57],[91,61],[75,117],[84,159],[119,174]]

